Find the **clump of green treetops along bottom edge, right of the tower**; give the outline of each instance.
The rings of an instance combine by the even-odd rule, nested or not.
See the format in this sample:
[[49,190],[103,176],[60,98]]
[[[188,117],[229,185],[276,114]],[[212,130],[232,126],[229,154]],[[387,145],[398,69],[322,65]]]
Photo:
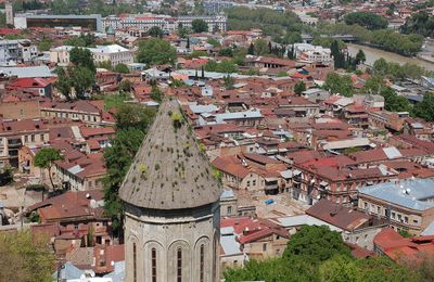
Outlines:
[[228,269],[228,282],[235,281],[420,281],[417,271],[388,258],[356,259],[342,235],[328,227],[304,226],[288,242],[280,258],[250,260],[243,268]]

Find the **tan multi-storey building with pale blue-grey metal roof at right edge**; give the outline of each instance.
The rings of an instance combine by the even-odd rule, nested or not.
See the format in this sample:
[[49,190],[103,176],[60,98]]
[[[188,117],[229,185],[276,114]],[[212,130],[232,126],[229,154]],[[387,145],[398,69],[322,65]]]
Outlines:
[[409,179],[359,189],[358,208],[419,235],[434,220],[434,180]]

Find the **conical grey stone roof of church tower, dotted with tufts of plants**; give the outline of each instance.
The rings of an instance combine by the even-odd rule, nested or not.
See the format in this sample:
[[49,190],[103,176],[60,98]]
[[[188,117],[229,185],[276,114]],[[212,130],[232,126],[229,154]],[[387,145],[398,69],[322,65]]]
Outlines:
[[119,190],[129,204],[153,209],[217,202],[220,185],[176,100],[163,102]]

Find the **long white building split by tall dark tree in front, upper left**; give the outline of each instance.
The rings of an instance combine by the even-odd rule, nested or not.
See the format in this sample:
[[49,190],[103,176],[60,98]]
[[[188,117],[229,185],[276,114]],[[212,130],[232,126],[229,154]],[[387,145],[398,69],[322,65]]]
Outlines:
[[[50,62],[60,64],[69,64],[69,52],[73,50],[72,46],[61,46],[50,50]],[[107,62],[112,66],[118,64],[132,64],[135,62],[133,51],[126,49],[118,44],[97,46],[95,48],[86,48],[92,55],[95,63]]]

